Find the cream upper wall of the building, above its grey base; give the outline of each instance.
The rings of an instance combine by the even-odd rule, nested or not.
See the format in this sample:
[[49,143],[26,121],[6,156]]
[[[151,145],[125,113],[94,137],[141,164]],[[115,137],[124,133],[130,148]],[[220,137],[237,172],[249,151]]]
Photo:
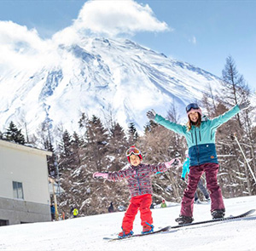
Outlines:
[[20,148],[0,145],[0,197],[14,198],[13,181],[17,181],[22,183],[25,201],[49,204],[46,155]]

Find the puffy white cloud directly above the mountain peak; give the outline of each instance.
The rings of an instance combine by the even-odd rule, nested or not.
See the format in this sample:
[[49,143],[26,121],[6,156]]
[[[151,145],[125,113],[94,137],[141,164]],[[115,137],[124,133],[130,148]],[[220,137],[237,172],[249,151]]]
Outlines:
[[154,17],[152,9],[126,1],[96,1],[84,3],[73,27],[79,31],[107,34],[110,37],[119,34],[133,35],[139,31],[168,31],[166,22],[160,22]]

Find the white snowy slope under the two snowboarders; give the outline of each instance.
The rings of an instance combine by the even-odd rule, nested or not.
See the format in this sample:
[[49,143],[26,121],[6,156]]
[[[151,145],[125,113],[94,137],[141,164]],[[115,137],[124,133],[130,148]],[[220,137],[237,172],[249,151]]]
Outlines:
[[[224,199],[226,215],[256,208],[256,196]],[[179,204],[154,208],[155,230],[176,225]],[[0,250],[256,250],[256,214],[244,220],[215,222],[174,229],[169,233],[108,242],[117,237],[125,212],[100,214],[55,222],[0,227]],[[209,220],[210,204],[195,204],[195,221]],[[139,214],[135,233],[142,231]]]

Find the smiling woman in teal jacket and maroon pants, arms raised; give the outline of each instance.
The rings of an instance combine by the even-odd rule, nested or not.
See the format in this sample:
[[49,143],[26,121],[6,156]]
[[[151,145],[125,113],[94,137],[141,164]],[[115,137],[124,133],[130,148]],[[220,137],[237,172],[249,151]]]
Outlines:
[[182,134],[189,147],[189,180],[188,186],[183,192],[180,217],[177,218],[179,225],[188,224],[194,220],[194,195],[203,173],[206,174],[207,189],[210,191],[212,218],[224,217],[224,201],[217,180],[219,165],[215,147],[215,134],[220,125],[248,106],[250,106],[250,102],[246,101],[239,106],[234,106],[230,111],[226,111],[218,117],[207,119],[207,117],[202,117],[201,108],[192,103],[186,107],[189,118],[189,122],[186,125],[172,123],[156,114],[154,110],[147,112],[149,119],[171,129],[177,134]]

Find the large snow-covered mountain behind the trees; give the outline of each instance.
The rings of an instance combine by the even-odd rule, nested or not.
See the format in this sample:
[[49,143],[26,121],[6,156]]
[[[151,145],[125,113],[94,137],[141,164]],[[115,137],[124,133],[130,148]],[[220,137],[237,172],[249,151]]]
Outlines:
[[211,73],[130,40],[86,37],[44,54],[16,47],[19,64],[0,66],[1,131],[14,121],[33,134],[45,120],[79,131],[82,112],[102,119],[112,113],[124,128],[133,122],[143,131],[148,109],[165,116],[174,103],[185,117],[184,106],[201,100],[209,84],[219,86]]

